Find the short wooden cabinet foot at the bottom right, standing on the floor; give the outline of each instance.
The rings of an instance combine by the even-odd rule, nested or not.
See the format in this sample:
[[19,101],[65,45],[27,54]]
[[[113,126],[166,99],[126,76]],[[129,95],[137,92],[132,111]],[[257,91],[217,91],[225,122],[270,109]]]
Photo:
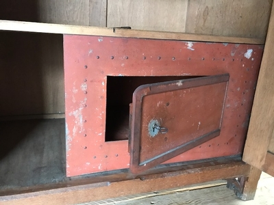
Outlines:
[[261,173],[262,171],[260,171],[260,169],[251,166],[249,176],[242,176],[238,179],[228,179],[227,188],[234,190],[235,194],[241,200],[253,200]]

